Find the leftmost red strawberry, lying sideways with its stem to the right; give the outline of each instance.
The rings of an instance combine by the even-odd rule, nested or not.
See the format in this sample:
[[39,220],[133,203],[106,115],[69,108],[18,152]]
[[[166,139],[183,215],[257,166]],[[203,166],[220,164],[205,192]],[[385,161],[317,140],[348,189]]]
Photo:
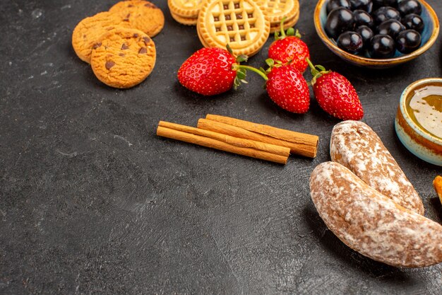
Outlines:
[[232,86],[239,86],[240,81],[244,82],[246,70],[239,66],[239,62],[246,60],[245,55],[235,59],[229,51],[221,48],[203,48],[181,65],[178,80],[191,91],[214,96],[228,91]]

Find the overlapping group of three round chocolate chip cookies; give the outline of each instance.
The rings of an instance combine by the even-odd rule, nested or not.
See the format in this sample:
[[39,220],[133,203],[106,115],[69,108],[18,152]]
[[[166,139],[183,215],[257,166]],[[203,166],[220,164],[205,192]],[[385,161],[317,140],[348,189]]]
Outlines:
[[144,81],[155,66],[155,44],[165,18],[149,1],[121,1],[109,11],[80,21],[72,46],[108,86],[130,88]]

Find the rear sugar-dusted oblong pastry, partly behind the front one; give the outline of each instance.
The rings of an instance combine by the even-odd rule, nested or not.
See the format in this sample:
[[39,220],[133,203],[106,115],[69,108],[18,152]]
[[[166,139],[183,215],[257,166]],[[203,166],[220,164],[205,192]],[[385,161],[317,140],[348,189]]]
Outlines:
[[402,207],[424,214],[424,205],[413,185],[368,125],[344,121],[335,125],[330,139],[332,161],[349,168],[367,185]]

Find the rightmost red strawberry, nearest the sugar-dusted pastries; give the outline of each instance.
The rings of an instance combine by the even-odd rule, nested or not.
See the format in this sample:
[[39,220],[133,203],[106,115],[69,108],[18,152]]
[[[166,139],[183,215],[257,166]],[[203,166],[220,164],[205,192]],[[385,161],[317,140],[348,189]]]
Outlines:
[[323,66],[311,67],[313,93],[325,112],[341,120],[361,120],[364,117],[361,101],[352,83],[335,71],[325,71]]

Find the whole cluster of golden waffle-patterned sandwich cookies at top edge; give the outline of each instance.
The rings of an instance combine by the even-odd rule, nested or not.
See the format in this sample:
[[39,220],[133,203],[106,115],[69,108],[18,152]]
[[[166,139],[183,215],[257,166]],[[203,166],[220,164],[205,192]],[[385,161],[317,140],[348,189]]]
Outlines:
[[204,47],[225,48],[233,54],[256,54],[270,33],[295,25],[298,0],[168,0],[175,21],[196,25]]

